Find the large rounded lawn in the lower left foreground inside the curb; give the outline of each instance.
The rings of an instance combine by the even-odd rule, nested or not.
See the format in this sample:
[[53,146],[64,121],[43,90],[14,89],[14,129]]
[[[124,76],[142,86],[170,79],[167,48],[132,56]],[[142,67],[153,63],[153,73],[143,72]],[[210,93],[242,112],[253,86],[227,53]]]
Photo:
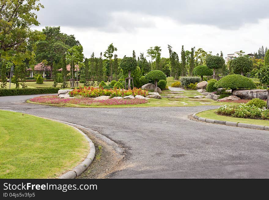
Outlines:
[[0,178],[55,178],[89,152],[71,126],[0,110]]

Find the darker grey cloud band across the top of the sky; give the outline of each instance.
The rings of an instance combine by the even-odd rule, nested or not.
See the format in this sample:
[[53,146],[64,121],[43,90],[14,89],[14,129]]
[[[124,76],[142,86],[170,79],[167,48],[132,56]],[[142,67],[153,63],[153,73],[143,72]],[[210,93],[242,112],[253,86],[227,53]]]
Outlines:
[[135,28],[153,27],[155,24],[149,16],[170,17],[178,23],[212,25],[221,29],[238,29],[245,23],[257,23],[259,19],[269,18],[268,0],[40,2],[45,6],[38,12],[42,26],[97,28],[105,32],[130,32]]

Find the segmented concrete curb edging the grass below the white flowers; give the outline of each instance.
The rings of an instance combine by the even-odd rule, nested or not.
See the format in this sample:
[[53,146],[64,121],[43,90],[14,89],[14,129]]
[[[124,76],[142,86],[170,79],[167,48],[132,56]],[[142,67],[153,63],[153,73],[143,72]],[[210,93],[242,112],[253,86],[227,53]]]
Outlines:
[[[215,110],[215,109],[213,109],[213,110]],[[198,112],[198,113],[200,113],[200,112]],[[212,123],[212,124],[222,124],[222,125],[228,125],[228,126],[237,126],[237,127],[243,127],[243,128],[252,128],[252,129],[269,131],[269,126],[245,124],[245,123],[238,123],[238,122],[233,122],[233,121],[219,121],[219,120],[214,120],[214,119],[206,119],[206,118],[201,118],[201,117],[197,116],[196,114],[197,113],[193,114],[192,117],[198,121],[208,122],[208,123]]]

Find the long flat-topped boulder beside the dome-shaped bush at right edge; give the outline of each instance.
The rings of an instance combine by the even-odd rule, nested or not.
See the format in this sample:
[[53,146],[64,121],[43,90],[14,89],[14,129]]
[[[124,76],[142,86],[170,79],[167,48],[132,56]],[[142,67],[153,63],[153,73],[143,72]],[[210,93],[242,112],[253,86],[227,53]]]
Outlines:
[[267,99],[266,89],[236,89],[233,91],[233,96],[238,96],[241,99]]

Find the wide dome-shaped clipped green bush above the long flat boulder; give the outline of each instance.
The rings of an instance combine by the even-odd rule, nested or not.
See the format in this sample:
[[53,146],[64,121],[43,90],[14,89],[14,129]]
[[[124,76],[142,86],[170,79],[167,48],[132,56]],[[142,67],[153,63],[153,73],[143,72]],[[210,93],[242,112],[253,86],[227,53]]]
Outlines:
[[227,75],[217,81],[214,85],[216,88],[225,89],[256,89],[252,80],[238,74]]

